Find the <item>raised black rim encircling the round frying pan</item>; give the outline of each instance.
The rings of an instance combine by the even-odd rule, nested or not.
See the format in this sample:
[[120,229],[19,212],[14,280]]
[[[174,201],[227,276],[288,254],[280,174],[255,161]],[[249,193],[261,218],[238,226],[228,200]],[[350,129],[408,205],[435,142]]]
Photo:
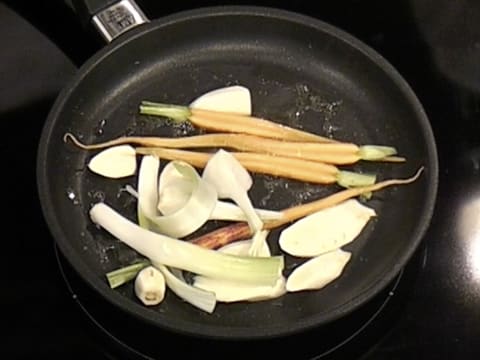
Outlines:
[[[208,324],[198,324],[192,322],[177,322],[176,324],[159,323],[158,319],[150,320],[146,311],[142,309],[130,306],[130,300],[126,300],[124,296],[112,292],[103,284],[100,279],[97,279],[95,274],[82,262],[80,259],[76,259],[75,252],[72,247],[65,243],[65,234],[57,221],[55,214],[53,213],[53,203],[51,202],[51,196],[49,193],[49,187],[47,183],[47,154],[50,151],[48,147],[48,141],[45,139],[50,138],[50,134],[53,131],[56,119],[64,107],[66,100],[72,94],[74,89],[82,82],[82,80],[89,74],[91,69],[95,68],[97,64],[103,61],[108,56],[111,56],[115,51],[123,47],[125,44],[135,41],[135,39],[144,36],[151,31],[157,31],[161,27],[169,26],[179,21],[189,21],[191,19],[211,17],[211,16],[262,16],[268,18],[277,18],[289,22],[298,22],[303,26],[310,26],[316,28],[318,31],[325,32],[334,38],[347,43],[348,46],[355,48],[361,52],[364,56],[371,59],[378,67],[388,73],[390,79],[398,87],[399,91],[406,97],[409,103],[412,105],[412,109],[415,110],[419,125],[422,129],[423,136],[427,141],[427,157],[428,157],[428,179],[427,185],[430,189],[426,202],[424,204],[424,211],[417,226],[414,228],[412,241],[410,247],[401,254],[393,269],[389,270],[385,276],[381,277],[377,282],[370,284],[361,294],[358,294],[351,301],[342,303],[338,307],[329,311],[328,313],[320,313],[316,316],[312,316],[308,319],[301,319],[293,324],[287,326],[273,326],[252,329],[250,327],[235,327],[229,326],[216,326]],[[408,263],[413,256],[416,249],[419,247],[420,242],[425,237],[425,234],[430,226],[430,221],[434,213],[436,204],[437,188],[438,188],[438,155],[436,149],[436,142],[433,131],[430,127],[429,119],[423,109],[422,104],[413,92],[410,85],[401,76],[401,74],[377,51],[371,48],[369,45],[360,41],[356,37],[350,35],[348,32],[339,29],[333,25],[330,25],[320,19],[310,17],[308,15],[295,13],[289,10],[262,7],[262,6],[211,6],[197,8],[193,10],[185,10],[172,15],[168,15],[163,18],[159,18],[151,21],[146,25],[139,26],[137,29],[122,35],[120,38],[114,40],[112,43],[106,45],[95,53],[89,60],[87,60],[78,70],[77,74],[66,84],[63,90],[58,95],[50,114],[45,121],[42,129],[40,142],[37,151],[37,189],[39,193],[39,199],[43,216],[48,225],[48,228],[53,235],[53,239],[59,245],[60,250],[72,264],[73,268],[86,280],[86,283],[92,287],[97,293],[100,293],[103,298],[108,299],[113,305],[121,310],[127,310],[131,315],[135,315],[143,321],[147,321],[152,325],[159,326],[168,331],[180,333],[184,335],[190,335],[195,337],[206,337],[216,339],[234,339],[234,340],[251,340],[251,339],[267,339],[280,336],[288,336],[306,331],[314,327],[321,326],[322,324],[329,323],[348,313],[356,310],[362,304],[372,299],[378,294],[390,281],[399,273],[399,271]]]

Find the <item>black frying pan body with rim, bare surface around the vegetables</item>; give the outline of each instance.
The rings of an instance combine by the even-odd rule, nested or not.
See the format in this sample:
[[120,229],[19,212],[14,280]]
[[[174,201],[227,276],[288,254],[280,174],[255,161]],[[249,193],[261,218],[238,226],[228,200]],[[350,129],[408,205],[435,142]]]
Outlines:
[[[187,104],[214,88],[251,89],[254,112],[291,126],[358,144],[396,146],[404,164],[357,164],[378,179],[413,184],[375,193],[378,218],[346,248],[344,274],[320,291],[258,303],[219,304],[203,313],[168,293],[157,307],[142,306],[132,284],[111,290],[105,273],[138,258],[92,226],[91,204],[106,201],[134,218],[135,202],[120,191],[135,178],[110,180],[86,169],[86,143],[125,134],[178,136],[179,129],[138,114],[141,100]],[[147,22],[105,46],[59,95],[38,152],[38,188],[46,222],[62,254],[112,306],[168,331],[224,339],[279,337],[338,319],[379,293],[409,261],[424,236],[437,192],[437,153],[429,121],[407,83],[380,55],[317,19],[256,7],[202,8]],[[257,206],[282,209],[338,190],[255,176]],[[288,188],[285,184],[288,183]],[[273,190],[273,192],[272,192]],[[275,244],[278,230],[272,233]],[[287,258],[288,272],[298,259]]]

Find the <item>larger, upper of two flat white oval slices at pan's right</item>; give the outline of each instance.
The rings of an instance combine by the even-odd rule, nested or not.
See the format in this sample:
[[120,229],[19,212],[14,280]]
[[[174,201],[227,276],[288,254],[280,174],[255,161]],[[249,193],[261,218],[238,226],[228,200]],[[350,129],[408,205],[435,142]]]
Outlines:
[[308,215],[286,229],[279,238],[280,248],[299,257],[317,256],[352,242],[375,210],[356,199]]

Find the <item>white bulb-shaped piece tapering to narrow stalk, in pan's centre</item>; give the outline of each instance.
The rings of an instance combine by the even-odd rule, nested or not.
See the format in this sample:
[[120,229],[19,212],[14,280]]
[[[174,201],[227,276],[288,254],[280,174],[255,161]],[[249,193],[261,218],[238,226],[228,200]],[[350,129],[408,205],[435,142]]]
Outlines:
[[218,150],[205,165],[202,177],[215,187],[219,199],[231,199],[242,209],[252,233],[263,228],[263,221],[248,197],[252,177],[231,153]]

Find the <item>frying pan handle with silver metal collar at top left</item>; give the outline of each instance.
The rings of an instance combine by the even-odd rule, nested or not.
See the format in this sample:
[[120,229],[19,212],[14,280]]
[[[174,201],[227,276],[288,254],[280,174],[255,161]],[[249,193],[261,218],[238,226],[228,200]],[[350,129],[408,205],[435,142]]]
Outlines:
[[107,42],[149,22],[134,0],[73,0],[72,6],[82,23],[93,24]]

